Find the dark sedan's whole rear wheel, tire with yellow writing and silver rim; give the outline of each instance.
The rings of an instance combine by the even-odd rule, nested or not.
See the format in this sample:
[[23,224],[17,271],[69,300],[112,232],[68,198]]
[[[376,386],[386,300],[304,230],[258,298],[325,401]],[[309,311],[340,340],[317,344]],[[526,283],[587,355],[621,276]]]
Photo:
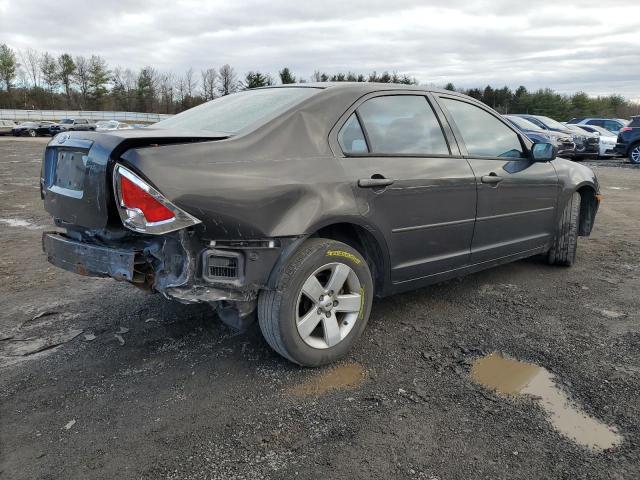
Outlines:
[[260,293],[260,330],[288,360],[324,365],[353,347],[372,300],[373,281],[363,256],[342,242],[313,238],[279,269],[275,289]]

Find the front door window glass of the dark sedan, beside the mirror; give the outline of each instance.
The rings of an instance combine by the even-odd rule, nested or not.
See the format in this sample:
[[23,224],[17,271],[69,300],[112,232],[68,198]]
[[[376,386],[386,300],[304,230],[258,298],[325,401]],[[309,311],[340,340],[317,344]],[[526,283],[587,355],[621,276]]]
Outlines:
[[522,158],[518,135],[489,112],[467,102],[441,99],[453,117],[469,155]]

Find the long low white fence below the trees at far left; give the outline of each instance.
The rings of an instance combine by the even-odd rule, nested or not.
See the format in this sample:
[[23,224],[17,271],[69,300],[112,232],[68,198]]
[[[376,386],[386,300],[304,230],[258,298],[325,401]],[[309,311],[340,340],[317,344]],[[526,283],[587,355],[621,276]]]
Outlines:
[[88,120],[120,120],[131,123],[155,123],[172,115],[142,112],[91,112],[87,110],[4,110],[1,120],[53,120],[61,118],[86,118]]

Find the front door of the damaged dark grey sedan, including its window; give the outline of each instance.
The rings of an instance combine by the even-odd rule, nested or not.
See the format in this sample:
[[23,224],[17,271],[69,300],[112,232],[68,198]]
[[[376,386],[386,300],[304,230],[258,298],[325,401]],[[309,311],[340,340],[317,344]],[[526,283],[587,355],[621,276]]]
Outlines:
[[555,234],[558,177],[533,162],[527,144],[495,112],[461,97],[438,96],[475,173],[478,207],[471,263],[547,246]]

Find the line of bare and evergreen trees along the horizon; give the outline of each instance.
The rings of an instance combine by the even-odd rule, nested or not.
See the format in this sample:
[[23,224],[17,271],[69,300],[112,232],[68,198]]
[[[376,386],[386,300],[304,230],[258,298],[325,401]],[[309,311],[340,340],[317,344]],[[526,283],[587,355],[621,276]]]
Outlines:
[[[274,77],[249,71],[242,77],[226,64],[182,74],[162,72],[152,66],[140,70],[110,67],[99,55],[90,57],[63,53],[54,56],[28,48],[16,51],[0,45],[0,108],[124,110],[178,113],[214,98],[240,90],[268,85],[313,82],[382,82],[417,84],[415,78],[395,72],[378,74],[315,71],[310,78],[296,77],[287,67]],[[551,89],[533,92],[525,87],[457,89],[501,113],[531,113],[557,119],[574,116],[628,118],[640,114],[640,104],[620,95],[589,97],[578,92],[563,95]]]

